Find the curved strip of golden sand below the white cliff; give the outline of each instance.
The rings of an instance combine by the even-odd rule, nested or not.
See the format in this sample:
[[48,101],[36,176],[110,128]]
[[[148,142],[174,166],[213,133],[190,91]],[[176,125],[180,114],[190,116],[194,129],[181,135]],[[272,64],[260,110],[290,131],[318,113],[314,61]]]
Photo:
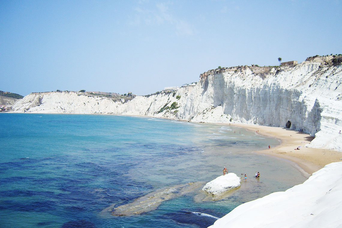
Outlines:
[[[281,141],[279,146],[268,149],[268,145],[265,145],[265,149],[257,151],[257,153],[272,155],[295,162],[301,169],[310,175],[323,168],[326,164],[339,162],[341,161],[340,158],[342,158],[342,152],[305,147],[305,145],[310,143],[314,137],[303,132],[250,124],[235,123],[230,125],[245,128],[253,132],[259,130],[258,134],[260,135],[279,139]],[[299,150],[295,150],[297,147],[299,147]]]

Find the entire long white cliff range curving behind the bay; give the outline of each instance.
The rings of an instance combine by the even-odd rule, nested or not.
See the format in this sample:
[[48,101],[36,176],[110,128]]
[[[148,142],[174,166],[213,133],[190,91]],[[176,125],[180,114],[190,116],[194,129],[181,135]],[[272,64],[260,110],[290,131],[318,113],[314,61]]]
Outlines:
[[[200,75],[195,86],[137,96],[128,102],[79,92],[32,93],[16,103],[13,112],[108,113],[287,125],[291,130],[315,135],[308,146],[342,151],[341,60],[318,56],[295,66],[210,70]],[[174,102],[175,109],[168,108]]]

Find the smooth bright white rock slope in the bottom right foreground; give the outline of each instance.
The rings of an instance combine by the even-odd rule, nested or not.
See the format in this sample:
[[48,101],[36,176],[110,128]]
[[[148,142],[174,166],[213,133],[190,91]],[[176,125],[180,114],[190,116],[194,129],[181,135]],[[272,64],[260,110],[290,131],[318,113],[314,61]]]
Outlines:
[[237,206],[210,228],[342,225],[342,162],[326,165],[303,184]]

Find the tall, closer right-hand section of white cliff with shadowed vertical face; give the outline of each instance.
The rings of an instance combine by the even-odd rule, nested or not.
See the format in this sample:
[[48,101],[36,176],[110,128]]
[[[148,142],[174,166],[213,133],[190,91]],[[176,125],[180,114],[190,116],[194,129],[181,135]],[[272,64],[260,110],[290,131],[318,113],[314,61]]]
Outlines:
[[280,127],[290,121],[291,130],[316,136],[309,146],[342,151],[341,69],[341,64],[325,56],[277,69],[232,67],[209,71],[201,75],[199,84],[206,102],[211,100],[214,109],[220,111],[213,115],[209,108],[193,121],[229,119]]

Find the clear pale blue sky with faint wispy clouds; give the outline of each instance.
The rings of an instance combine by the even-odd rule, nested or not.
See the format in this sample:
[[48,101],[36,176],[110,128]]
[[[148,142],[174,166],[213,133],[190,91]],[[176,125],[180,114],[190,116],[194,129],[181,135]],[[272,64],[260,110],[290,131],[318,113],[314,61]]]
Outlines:
[[341,0],[0,1],[0,90],[147,95],[342,53]]

